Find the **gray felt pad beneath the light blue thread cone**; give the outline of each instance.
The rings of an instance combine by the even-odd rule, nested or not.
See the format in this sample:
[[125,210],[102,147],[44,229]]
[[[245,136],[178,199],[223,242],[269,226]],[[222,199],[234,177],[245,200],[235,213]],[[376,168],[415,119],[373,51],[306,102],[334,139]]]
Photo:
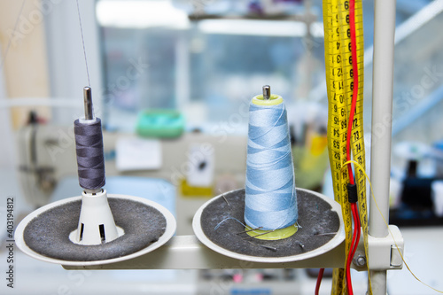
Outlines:
[[[231,252],[259,257],[297,255],[325,245],[335,235],[319,234],[336,233],[340,226],[338,213],[331,211],[330,204],[315,194],[297,190],[298,222],[301,228],[293,236],[276,241],[256,238],[244,240],[249,236],[246,233],[240,235],[237,233],[245,230],[245,227],[238,222],[245,223],[245,190],[234,190],[224,196],[229,206],[223,198],[215,199],[209,206],[206,206],[200,223],[206,237]],[[229,219],[221,223],[218,229],[214,229],[220,221],[229,217],[237,218],[238,221]],[[304,248],[301,248],[299,243],[304,245]],[[276,248],[276,252],[260,245]]]

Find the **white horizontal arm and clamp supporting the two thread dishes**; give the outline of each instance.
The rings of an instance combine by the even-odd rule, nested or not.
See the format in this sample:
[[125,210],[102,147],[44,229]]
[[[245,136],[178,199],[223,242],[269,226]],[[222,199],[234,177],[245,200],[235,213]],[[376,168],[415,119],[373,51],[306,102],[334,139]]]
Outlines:
[[[390,225],[390,229],[403,253],[403,237],[400,229]],[[357,254],[364,251],[361,243]],[[371,269],[401,269],[402,261],[391,236],[376,238],[369,236],[369,266]],[[284,263],[264,263],[237,260],[214,252],[198,241],[195,236],[175,236],[166,245],[132,260],[95,266],[63,266],[66,269],[233,269],[233,268],[343,268],[345,243],[330,252],[310,258]],[[366,266],[353,267],[366,270]]]

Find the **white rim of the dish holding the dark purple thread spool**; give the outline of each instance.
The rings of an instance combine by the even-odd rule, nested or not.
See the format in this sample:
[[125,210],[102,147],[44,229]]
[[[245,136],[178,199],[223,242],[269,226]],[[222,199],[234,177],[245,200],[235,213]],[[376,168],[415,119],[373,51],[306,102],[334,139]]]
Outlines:
[[152,243],[151,245],[147,246],[146,248],[144,248],[138,252],[134,252],[132,254],[118,257],[118,258],[113,258],[110,260],[95,260],[95,261],[58,260],[58,259],[43,256],[42,254],[34,252],[31,248],[29,248],[26,245],[26,243],[24,241],[24,237],[23,237],[23,232],[27,227],[27,223],[29,223],[29,221],[32,221],[39,214],[41,214],[47,210],[50,210],[50,209],[57,207],[57,206],[62,206],[62,205],[69,203],[69,202],[74,202],[74,201],[78,201],[78,200],[82,199],[82,197],[74,197],[74,198],[66,198],[66,199],[51,203],[49,205],[43,206],[43,207],[35,210],[33,213],[30,213],[29,215],[27,215],[27,217],[25,217],[19,223],[19,226],[15,230],[14,237],[15,237],[16,245],[19,247],[19,249],[22,252],[24,252],[28,256],[35,258],[37,260],[42,260],[45,262],[51,262],[51,263],[56,263],[56,264],[62,264],[65,266],[87,267],[87,266],[103,265],[103,264],[108,264],[108,263],[120,262],[120,261],[130,260],[130,259],[139,257],[141,255],[148,253],[148,252],[154,251],[155,249],[159,248],[161,245],[164,245],[165,243],[167,243],[167,241],[169,241],[169,239],[174,236],[175,229],[177,227],[175,217],[164,206],[161,206],[151,200],[148,200],[145,198],[139,198],[139,197],[132,197],[132,196],[126,196],[126,195],[113,195],[113,194],[110,194],[108,197],[109,198],[123,198],[123,199],[133,200],[136,202],[143,203],[147,206],[152,206],[155,209],[159,210],[159,212],[163,214],[163,216],[165,217],[165,219],[167,221],[167,226],[166,226],[165,233],[163,234],[163,236],[159,237],[159,240],[157,242]]

